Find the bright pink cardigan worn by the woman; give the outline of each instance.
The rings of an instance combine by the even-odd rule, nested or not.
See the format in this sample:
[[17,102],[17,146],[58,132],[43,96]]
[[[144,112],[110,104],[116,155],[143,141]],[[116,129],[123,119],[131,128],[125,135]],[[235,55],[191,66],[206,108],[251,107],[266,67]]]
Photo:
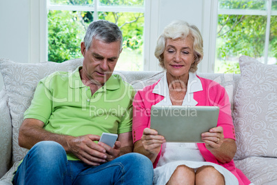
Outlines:
[[[217,125],[223,127],[223,134],[225,138],[232,138],[236,140],[231,116],[231,105],[229,103],[229,97],[225,91],[225,88],[220,86],[220,84],[215,81],[201,77],[198,78],[201,80],[203,90],[194,93],[194,99],[198,102],[196,106],[218,106],[220,111]],[[141,139],[144,128],[150,128],[151,107],[164,98],[161,95],[152,93],[156,84],[158,84],[158,81],[151,86],[146,86],[143,90],[139,90],[134,97],[132,128],[133,142]],[[207,150],[205,144],[198,143],[197,146],[207,162],[213,162],[227,168],[237,177],[239,184],[251,183],[249,179],[247,179],[247,177],[238,168],[236,168],[234,160],[224,164],[220,163],[216,157],[214,157],[214,155]],[[156,164],[158,163],[160,156],[161,151],[153,164],[154,168],[156,168]]]

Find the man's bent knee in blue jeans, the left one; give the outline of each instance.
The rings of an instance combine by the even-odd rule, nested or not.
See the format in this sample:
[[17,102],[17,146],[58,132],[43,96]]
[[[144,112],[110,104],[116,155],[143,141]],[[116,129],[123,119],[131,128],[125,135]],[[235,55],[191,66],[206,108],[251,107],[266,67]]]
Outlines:
[[67,162],[65,150],[60,144],[39,142],[30,149],[17,169],[14,184],[41,184],[41,179],[44,183],[50,182],[48,184],[53,184],[53,179],[62,182]]

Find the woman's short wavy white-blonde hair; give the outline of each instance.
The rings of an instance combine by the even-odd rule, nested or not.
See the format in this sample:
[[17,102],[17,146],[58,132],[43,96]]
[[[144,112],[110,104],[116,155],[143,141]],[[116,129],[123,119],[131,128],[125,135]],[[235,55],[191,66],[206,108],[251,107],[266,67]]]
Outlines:
[[189,68],[190,72],[196,72],[197,65],[201,62],[204,56],[203,39],[201,32],[194,25],[189,25],[186,21],[172,21],[165,27],[156,43],[155,56],[160,62],[160,66],[165,69],[163,52],[165,51],[165,42],[167,39],[185,39],[192,37],[194,39],[194,62]]

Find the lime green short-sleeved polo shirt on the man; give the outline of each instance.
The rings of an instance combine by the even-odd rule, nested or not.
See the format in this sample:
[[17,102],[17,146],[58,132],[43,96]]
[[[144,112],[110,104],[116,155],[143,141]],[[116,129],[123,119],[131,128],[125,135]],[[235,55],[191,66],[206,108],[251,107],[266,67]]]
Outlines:
[[[81,81],[79,68],[74,72],[54,72],[41,79],[24,119],[39,119],[45,123],[45,130],[61,135],[132,131],[132,99],[135,94],[132,86],[119,75],[112,75],[92,95],[90,87]],[[68,154],[68,159],[77,158]]]

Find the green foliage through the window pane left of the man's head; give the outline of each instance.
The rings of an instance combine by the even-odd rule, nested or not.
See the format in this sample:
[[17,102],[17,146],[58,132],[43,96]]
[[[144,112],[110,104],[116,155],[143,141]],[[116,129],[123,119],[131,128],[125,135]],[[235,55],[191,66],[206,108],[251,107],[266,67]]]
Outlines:
[[54,10],[48,18],[48,61],[61,63],[82,57],[83,26],[76,12]]

